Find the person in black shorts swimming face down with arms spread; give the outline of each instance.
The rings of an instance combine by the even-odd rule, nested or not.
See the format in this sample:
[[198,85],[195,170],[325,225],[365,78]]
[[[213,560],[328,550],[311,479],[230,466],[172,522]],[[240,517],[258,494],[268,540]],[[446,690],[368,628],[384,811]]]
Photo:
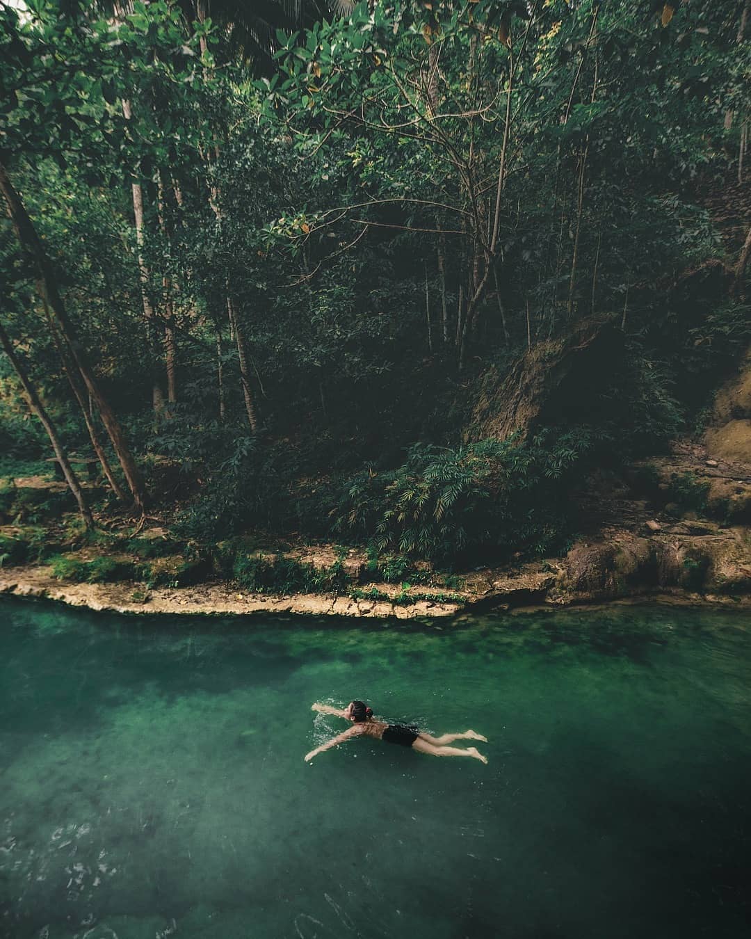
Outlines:
[[320,747],[315,747],[310,753],[305,754],[305,762],[313,760],[314,756],[323,753],[331,747],[338,747],[345,741],[353,737],[375,737],[376,740],[385,740],[387,744],[398,744],[402,747],[411,747],[419,753],[430,753],[434,757],[471,757],[474,760],[487,762],[487,757],[480,753],[477,747],[449,747],[454,740],[482,740],[487,743],[487,737],[476,731],[465,731],[464,733],[444,733],[440,737],[432,737],[429,733],[422,733],[414,728],[406,727],[404,724],[387,724],[382,720],[375,720],[373,710],[368,707],[364,701],[350,701],[344,711],[339,708],[331,707],[330,704],[320,704],[317,701],[311,707],[312,711],[318,711],[321,714],[331,714],[336,717],[344,717],[345,720],[352,721],[352,727],[349,727],[343,733],[332,737],[327,743]]

